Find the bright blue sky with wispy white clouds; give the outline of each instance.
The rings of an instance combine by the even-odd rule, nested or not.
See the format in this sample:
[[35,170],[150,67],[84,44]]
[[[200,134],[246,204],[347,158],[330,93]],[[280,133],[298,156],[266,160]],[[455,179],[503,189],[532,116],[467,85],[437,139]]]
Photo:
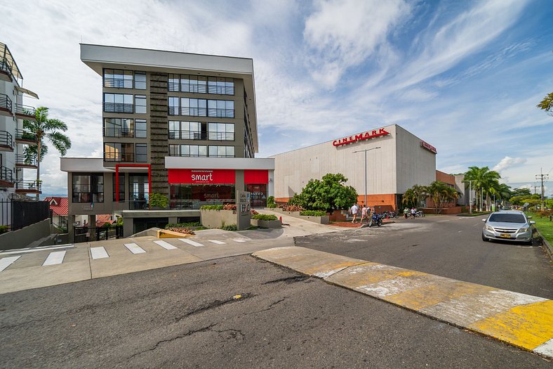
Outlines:
[[[553,7],[497,1],[8,1],[0,41],[24,86],[69,126],[67,156],[101,157],[101,77],[79,43],[253,58],[258,157],[399,124],[437,169],[553,177]],[[53,148],[44,193],[67,193]],[[547,193],[553,193],[548,184]],[[537,184],[537,183],[536,183]]]

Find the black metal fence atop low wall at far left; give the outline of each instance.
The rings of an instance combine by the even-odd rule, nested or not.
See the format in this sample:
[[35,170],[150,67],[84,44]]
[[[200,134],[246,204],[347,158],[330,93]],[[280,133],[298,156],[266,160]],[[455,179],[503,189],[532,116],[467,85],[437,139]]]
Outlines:
[[46,201],[0,200],[0,225],[12,231],[44,221],[50,217]]

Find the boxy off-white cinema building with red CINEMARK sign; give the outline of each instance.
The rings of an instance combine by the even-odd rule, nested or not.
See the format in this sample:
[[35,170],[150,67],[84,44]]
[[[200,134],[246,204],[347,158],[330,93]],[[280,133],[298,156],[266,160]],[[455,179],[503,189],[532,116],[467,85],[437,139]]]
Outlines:
[[[401,208],[401,196],[415,184],[437,179],[437,150],[406,129],[392,124],[307,148],[274,155],[274,196],[286,202],[309,179],[341,173],[377,210]],[[366,196],[365,196],[366,195]]]

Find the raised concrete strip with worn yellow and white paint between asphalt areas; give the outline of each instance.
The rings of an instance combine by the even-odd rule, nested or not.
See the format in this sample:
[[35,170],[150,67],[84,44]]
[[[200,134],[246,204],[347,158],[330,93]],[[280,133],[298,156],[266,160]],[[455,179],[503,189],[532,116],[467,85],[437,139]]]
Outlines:
[[303,247],[254,257],[553,358],[553,301]]

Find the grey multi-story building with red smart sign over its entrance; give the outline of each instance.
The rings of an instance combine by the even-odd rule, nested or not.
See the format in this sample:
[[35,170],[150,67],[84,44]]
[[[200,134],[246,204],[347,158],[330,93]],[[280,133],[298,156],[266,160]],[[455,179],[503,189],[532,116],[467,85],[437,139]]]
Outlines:
[[[199,217],[205,204],[272,195],[274,160],[258,152],[253,60],[81,44],[102,77],[102,158],[66,158],[69,224],[122,214],[125,234]],[[155,211],[150,194],[168,198]],[[69,227],[71,231],[71,226]]]

